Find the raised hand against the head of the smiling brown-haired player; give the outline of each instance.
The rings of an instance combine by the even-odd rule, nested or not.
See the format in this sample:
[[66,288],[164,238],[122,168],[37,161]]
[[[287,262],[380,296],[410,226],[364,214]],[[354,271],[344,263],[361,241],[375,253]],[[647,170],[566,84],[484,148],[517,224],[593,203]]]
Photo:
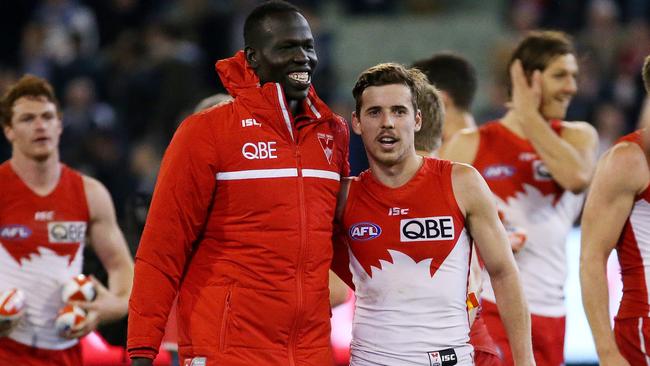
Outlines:
[[517,113],[521,118],[519,122],[524,123],[529,114],[540,114],[539,108],[542,103],[542,73],[539,70],[533,71],[530,82],[524,73],[520,60],[515,60],[510,66],[510,80],[512,81],[512,102],[509,109]]

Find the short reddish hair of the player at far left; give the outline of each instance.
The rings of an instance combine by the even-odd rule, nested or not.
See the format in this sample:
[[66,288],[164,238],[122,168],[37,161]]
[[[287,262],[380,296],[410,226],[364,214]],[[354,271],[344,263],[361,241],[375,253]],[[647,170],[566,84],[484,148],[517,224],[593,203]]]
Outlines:
[[59,101],[56,99],[52,85],[45,79],[26,74],[18,82],[10,86],[0,99],[0,123],[3,126],[11,125],[14,103],[22,97],[45,97],[45,99],[54,103],[57,111],[59,111]]

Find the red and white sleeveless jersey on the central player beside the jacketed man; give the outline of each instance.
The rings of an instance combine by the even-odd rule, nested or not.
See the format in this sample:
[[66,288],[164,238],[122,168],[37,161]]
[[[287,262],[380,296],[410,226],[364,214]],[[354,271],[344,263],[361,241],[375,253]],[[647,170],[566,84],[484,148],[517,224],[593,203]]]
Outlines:
[[342,218],[356,295],[351,365],[473,364],[471,243],[451,168],[424,158],[399,188],[369,170],[351,183]]

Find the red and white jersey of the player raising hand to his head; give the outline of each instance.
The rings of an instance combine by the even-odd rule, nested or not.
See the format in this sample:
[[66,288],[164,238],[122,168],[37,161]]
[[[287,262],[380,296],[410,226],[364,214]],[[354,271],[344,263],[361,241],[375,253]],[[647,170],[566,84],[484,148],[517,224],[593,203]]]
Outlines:
[[[560,121],[551,127],[559,134]],[[530,312],[563,316],[566,280],[566,237],[582,208],[584,194],[562,188],[528,140],[498,121],[479,127],[474,167],[494,193],[506,228],[525,233],[515,254]],[[489,276],[483,297],[495,302]]]

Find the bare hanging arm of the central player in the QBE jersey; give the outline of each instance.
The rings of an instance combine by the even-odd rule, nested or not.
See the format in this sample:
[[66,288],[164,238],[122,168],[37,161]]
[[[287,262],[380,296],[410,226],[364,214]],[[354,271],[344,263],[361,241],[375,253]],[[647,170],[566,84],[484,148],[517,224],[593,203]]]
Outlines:
[[515,363],[534,365],[530,315],[519,272],[492,194],[478,172],[467,165],[454,164],[452,182],[454,194],[466,217],[466,225],[490,275]]

